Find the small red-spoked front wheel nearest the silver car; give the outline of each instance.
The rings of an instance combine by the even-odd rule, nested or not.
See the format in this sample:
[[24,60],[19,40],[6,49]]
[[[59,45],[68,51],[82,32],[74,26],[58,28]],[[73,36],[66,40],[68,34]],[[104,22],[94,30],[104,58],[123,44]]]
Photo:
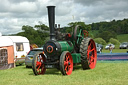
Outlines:
[[35,75],[44,74],[46,71],[44,62],[46,62],[46,58],[42,53],[34,55],[32,60],[32,69]]

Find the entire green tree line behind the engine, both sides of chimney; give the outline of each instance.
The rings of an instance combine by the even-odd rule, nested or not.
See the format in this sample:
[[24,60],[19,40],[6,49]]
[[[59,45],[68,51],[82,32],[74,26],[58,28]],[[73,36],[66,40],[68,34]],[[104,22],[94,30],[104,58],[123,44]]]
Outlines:
[[[62,27],[61,32],[72,33],[76,25],[81,25],[83,29],[89,31],[89,36],[92,38],[102,38],[109,42],[110,38],[117,38],[118,34],[128,34],[128,19],[112,20],[110,22],[97,22],[92,24],[85,24],[85,22],[70,22],[68,26]],[[98,31],[95,35],[92,31]],[[37,44],[42,46],[49,40],[49,27],[45,24],[22,26],[22,32],[13,34],[17,36],[27,37],[30,44]]]

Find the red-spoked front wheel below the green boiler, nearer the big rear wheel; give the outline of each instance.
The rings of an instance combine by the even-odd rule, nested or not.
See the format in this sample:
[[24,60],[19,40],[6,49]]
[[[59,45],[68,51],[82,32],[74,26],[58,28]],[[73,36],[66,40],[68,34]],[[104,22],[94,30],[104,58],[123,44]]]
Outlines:
[[63,75],[70,75],[73,70],[73,59],[68,51],[64,51],[60,56],[60,70]]

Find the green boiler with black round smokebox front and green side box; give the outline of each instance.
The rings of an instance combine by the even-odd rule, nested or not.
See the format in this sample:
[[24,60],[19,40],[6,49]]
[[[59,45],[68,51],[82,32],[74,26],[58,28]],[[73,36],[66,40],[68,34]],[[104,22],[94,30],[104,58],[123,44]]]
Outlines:
[[73,63],[80,63],[80,53],[74,52],[74,44],[71,41],[48,41],[44,45],[44,52],[48,56],[48,59],[58,60],[61,53],[69,51],[73,58]]

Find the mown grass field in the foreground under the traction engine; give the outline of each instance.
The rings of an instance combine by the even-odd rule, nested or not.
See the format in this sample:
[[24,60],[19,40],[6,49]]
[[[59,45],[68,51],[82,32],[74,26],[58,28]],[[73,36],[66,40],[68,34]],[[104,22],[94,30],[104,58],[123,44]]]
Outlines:
[[45,75],[35,76],[32,69],[18,66],[8,70],[0,70],[0,85],[127,85],[128,61],[98,62],[93,70],[82,70],[74,67],[69,76],[60,71],[50,69]]

